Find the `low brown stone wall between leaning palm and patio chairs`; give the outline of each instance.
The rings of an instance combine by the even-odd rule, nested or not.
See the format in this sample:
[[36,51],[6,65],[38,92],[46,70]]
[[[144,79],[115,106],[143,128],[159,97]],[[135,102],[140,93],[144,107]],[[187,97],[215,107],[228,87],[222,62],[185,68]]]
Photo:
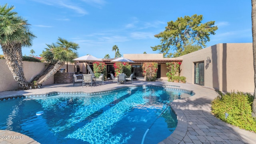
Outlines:
[[74,72],[57,72],[54,74],[54,84],[72,84]]

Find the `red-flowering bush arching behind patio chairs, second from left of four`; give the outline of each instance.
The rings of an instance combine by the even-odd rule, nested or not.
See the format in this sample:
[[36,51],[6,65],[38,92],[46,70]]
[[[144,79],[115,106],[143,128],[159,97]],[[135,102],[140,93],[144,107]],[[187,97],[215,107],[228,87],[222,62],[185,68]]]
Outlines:
[[127,63],[114,63],[115,76],[118,76],[120,73],[126,74],[126,76],[130,76],[132,73],[132,66]]

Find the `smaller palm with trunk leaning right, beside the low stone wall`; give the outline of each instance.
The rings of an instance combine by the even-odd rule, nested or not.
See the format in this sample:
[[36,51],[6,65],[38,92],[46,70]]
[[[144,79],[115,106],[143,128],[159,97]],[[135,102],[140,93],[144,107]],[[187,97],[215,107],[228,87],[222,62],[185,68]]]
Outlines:
[[44,72],[34,78],[33,81],[37,81],[40,77],[45,75],[45,77],[38,82],[38,85],[41,85],[51,76],[56,74],[56,72],[65,64],[65,62],[73,62],[73,59],[78,57],[76,50],[78,50],[79,46],[74,42],[68,42],[67,40],[59,37],[56,44],[53,43],[51,45],[46,45],[48,48],[45,48],[46,51],[43,51],[40,56],[45,62],[48,62],[49,65]]

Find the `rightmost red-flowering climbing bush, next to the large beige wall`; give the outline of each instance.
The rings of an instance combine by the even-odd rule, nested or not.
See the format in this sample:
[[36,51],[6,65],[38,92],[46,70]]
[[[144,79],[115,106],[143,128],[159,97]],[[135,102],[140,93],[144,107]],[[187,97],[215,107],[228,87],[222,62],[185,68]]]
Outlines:
[[166,62],[166,66],[169,72],[166,73],[168,80],[172,80],[173,76],[180,76],[180,64],[181,62]]

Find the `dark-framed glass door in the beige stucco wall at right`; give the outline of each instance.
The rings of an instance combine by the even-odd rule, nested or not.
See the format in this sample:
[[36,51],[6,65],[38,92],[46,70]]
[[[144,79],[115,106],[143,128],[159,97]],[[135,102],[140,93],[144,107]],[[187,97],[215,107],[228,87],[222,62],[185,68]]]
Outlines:
[[194,63],[194,84],[204,86],[204,62]]

